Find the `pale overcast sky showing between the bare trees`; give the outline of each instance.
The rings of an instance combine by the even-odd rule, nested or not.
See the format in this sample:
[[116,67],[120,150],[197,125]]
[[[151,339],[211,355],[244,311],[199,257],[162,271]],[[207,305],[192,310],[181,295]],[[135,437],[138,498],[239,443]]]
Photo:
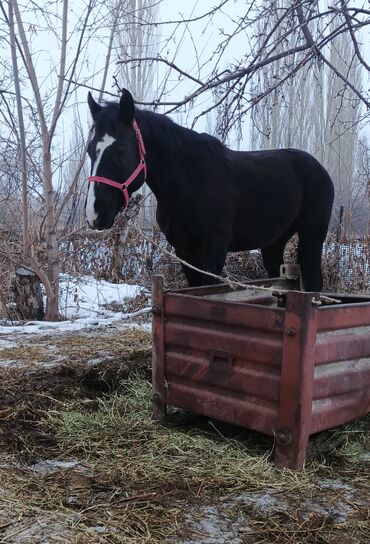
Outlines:
[[[162,0],[159,7],[159,15],[161,21],[173,21],[180,19],[196,18],[207,13],[215,5],[217,0]],[[22,13],[26,29],[32,28],[35,20],[32,9],[32,2],[28,3],[30,10]],[[54,3],[61,10],[62,2]],[[84,9],[84,4],[81,0],[70,0],[69,8],[69,28],[79,19],[79,13]],[[100,8],[100,19],[106,13],[106,4],[102,3]],[[246,9],[246,2],[242,0],[230,0],[221,12],[217,12],[213,17],[206,17],[191,25],[161,25],[158,35],[158,53],[164,58],[167,58],[176,63],[181,69],[188,71],[192,76],[199,79],[205,79],[209,75],[211,63],[207,64],[209,59],[212,59],[217,44],[220,41],[220,29],[224,33],[232,33],[235,28],[238,16]],[[97,20],[99,21],[99,13]],[[60,29],[56,28],[59,32]],[[168,42],[168,37],[173,35],[173,39]],[[100,88],[102,78],[102,67],[106,56],[106,45],[109,36],[107,26],[96,27],[91,40],[87,44],[85,62],[82,64],[81,70],[76,74],[76,78],[81,83],[86,83],[92,87]],[[69,43],[69,63],[73,61],[74,51],[77,46],[77,34],[75,39],[71,39]],[[33,48],[36,51],[35,62],[37,64],[37,72],[39,79],[42,81],[43,92],[48,89],[55,88],[56,81],[51,77],[51,73],[59,61],[59,49],[53,33],[47,30],[35,28],[33,34]],[[364,36],[363,50],[365,54],[370,55],[370,40],[369,33]],[[233,64],[234,61],[239,61],[243,54],[249,51],[248,36],[240,34],[234,37],[231,46],[227,49],[227,53],[222,57],[221,66],[227,67]],[[161,71],[164,73],[165,68],[161,66]],[[107,81],[106,88],[112,90],[112,74],[115,70],[114,62],[111,63],[111,72]],[[95,74],[95,75],[94,75]],[[159,78],[160,79],[160,78]],[[171,79],[166,87],[164,99],[168,101],[181,100],[195,88],[193,82],[189,82],[185,77],[178,77],[176,73],[172,73]],[[76,92],[70,100],[70,105],[77,104],[81,119],[86,126],[89,123],[88,108],[86,104],[87,89],[82,88]],[[97,94],[97,93],[95,93]],[[29,96],[31,96],[29,94]],[[205,93],[196,105],[191,105],[187,111],[177,119],[183,124],[190,126],[191,120],[196,113],[204,109],[210,101],[210,94]],[[73,119],[73,107],[68,110],[61,119],[59,128],[60,134],[67,136],[71,129],[71,120]],[[174,115],[173,115],[174,116]],[[176,116],[175,116],[176,117]],[[197,130],[207,130],[207,122],[202,119],[197,125]],[[233,142],[230,141],[233,145]],[[244,144],[243,144],[244,145]]]

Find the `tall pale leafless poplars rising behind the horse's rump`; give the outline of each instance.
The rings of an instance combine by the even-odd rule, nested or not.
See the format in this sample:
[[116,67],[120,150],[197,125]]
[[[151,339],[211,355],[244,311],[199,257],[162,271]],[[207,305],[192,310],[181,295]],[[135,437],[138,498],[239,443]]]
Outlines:
[[[274,8],[271,17],[257,23],[261,40],[276,26],[281,10],[290,2],[275,0],[271,4]],[[312,24],[315,35],[322,34],[320,24],[319,19]],[[284,27],[280,32],[286,34],[285,43],[293,49],[299,29],[292,28],[288,33],[288,27]],[[281,47],[279,40],[276,51]],[[339,34],[328,49],[335,71],[346,73],[351,84],[361,89],[361,64],[350,35]],[[279,59],[261,70],[254,88],[256,96],[274,85],[282,62]],[[343,206],[349,220],[358,167],[360,113],[361,102],[347,83],[326,64],[313,62],[309,70],[299,71],[253,108],[252,142],[256,148],[298,147],[313,153],[326,166],[336,185],[335,209]]]

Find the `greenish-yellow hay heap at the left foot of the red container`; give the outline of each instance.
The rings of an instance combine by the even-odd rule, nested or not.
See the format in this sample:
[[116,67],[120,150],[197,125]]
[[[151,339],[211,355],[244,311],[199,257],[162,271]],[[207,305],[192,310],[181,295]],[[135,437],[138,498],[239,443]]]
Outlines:
[[96,460],[96,470],[103,459],[104,470],[110,466],[130,488],[142,481],[152,486],[176,481],[184,489],[217,490],[235,487],[235,482],[260,487],[274,478],[268,455],[259,455],[260,448],[248,451],[241,442],[211,429],[165,428],[151,419],[149,383],[130,378],[124,388],[123,395],[100,400],[94,413],[50,414],[49,424],[63,447],[71,454],[87,452],[90,461]]

